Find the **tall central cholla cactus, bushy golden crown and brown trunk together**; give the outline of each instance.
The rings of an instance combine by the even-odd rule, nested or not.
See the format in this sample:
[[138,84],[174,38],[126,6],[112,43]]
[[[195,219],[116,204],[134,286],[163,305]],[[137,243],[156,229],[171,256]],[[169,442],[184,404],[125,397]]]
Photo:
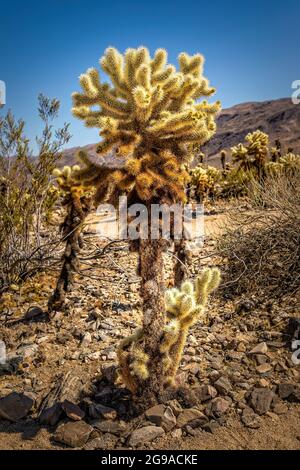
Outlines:
[[[121,168],[108,168],[103,158],[80,152],[83,168],[78,180],[96,188],[97,202],[116,204],[118,196],[126,193],[128,204],[142,202],[150,214],[151,204],[185,200],[188,173],[184,166],[191,158],[190,149],[215,133],[220,103],[203,99],[215,92],[203,76],[203,57],[182,53],[178,59],[176,70],[167,64],[164,49],[151,58],[145,47],[128,49],[124,55],[110,47],[100,60],[109,83],[101,82],[94,68],[81,75],[82,93],[73,94],[74,116],[100,129],[97,153],[104,161],[110,151],[124,160]],[[150,218],[148,222],[150,227]],[[139,392],[146,402],[147,395],[150,400],[161,389],[159,338],[165,324],[166,243],[150,237],[138,242],[143,299],[140,342],[150,371],[147,381],[140,382]]]

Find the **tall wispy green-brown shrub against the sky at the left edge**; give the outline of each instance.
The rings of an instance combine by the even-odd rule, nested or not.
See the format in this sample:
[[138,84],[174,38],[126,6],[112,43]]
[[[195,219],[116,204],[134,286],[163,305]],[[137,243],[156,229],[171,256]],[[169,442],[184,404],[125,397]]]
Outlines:
[[46,229],[59,196],[51,173],[70,139],[68,125],[54,131],[59,102],[42,94],[38,113],[43,131],[37,156],[24,133],[24,120],[11,112],[0,119],[0,292],[44,269],[51,262],[53,230]]

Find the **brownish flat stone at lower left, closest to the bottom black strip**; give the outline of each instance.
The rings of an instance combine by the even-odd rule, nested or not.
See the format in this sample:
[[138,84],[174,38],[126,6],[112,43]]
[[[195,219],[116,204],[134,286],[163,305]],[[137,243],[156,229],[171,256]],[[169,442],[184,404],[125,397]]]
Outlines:
[[92,426],[84,421],[75,421],[61,424],[53,438],[57,442],[66,444],[69,447],[82,447],[93,431]]

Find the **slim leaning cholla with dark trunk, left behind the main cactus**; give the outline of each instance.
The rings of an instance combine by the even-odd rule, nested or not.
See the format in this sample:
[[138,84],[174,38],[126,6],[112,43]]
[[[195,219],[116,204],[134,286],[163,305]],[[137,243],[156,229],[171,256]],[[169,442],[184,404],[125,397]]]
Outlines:
[[66,215],[60,225],[60,231],[66,241],[62,255],[62,268],[56,283],[55,290],[48,301],[48,310],[59,310],[65,301],[65,293],[73,284],[74,272],[78,270],[78,253],[82,241],[80,232],[82,223],[90,209],[89,188],[83,187],[76,180],[80,167],[65,166],[62,170],[56,168],[53,176],[56,177],[58,187],[63,196],[62,205],[66,207]]

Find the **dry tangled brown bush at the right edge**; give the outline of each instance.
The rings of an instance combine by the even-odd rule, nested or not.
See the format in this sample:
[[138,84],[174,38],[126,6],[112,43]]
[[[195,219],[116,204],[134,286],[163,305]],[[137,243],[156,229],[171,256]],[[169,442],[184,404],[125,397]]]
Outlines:
[[252,183],[218,241],[226,292],[283,295],[300,286],[300,171]]

